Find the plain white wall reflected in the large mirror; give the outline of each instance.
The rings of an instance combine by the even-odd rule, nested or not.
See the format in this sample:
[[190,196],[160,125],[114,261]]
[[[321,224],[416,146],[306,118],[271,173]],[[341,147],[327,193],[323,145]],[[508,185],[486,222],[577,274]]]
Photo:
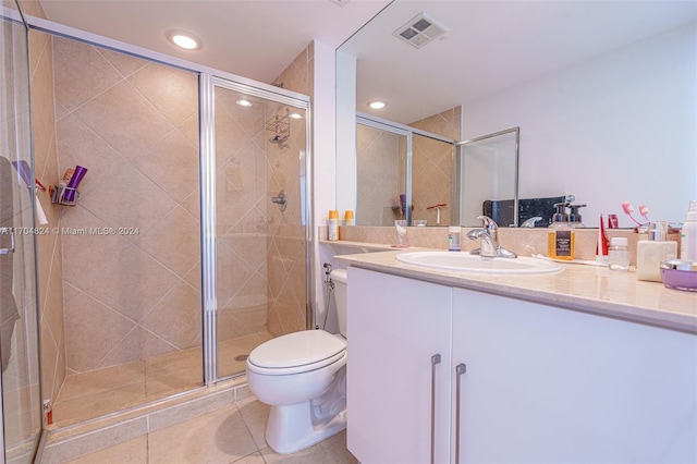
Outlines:
[[682,222],[697,199],[697,23],[464,105],[464,139],[521,127],[519,197],[576,195],[588,227]]

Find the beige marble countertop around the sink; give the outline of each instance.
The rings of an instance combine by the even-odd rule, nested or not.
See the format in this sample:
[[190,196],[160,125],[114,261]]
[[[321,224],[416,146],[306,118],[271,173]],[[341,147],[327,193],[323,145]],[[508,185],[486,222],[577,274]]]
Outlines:
[[[351,246],[352,243],[344,242],[343,245]],[[365,243],[355,245],[366,246]],[[386,245],[380,247],[389,249]],[[639,281],[632,270],[616,272],[607,267],[561,264],[563,271],[554,274],[496,276],[428,269],[395,258],[400,253],[429,249],[436,251],[411,247],[334,258],[347,266],[697,333],[697,292]]]

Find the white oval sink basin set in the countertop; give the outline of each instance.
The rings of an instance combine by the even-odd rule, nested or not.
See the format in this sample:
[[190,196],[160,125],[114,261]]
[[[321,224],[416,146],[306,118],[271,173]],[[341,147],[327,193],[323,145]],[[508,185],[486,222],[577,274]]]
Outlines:
[[398,255],[396,259],[398,261],[402,261],[407,265],[421,266],[426,268],[479,273],[553,273],[563,269],[555,262],[537,258],[517,257],[485,259],[478,255],[457,252],[403,253]]

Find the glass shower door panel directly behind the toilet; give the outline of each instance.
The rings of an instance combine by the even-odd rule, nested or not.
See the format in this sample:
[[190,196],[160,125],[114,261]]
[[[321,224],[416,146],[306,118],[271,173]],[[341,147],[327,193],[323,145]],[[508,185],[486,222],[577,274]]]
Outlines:
[[307,326],[307,114],[289,98],[215,86],[217,378]]

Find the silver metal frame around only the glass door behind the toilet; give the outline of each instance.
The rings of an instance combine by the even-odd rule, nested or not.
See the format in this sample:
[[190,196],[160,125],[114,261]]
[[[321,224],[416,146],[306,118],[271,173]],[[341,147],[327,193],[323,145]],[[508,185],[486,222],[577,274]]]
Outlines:
[[[313,162],[310,149],[311,109],[309,97],[299,94],[292,96],[265,90],[257,86],[243,84],[230,78],[219,77],[208,73],[199,74],[199,169],[200,169],[200,241],[201,241],[201,298],[204,322],[204,380],[206,386],[215,384],[218,380],[239,377],[244,373],[218,377],[218,340],[217,340],[217,218],[216,218],[216,87],[239,91],[252,97],[264,98],[268,101],[288,105],[305,111],[305,317],[306,328],[311,321],[311,290],[313,290],[313,217],[311,217],[311,179]],[[299,173],[298,173],[299,175]]]

